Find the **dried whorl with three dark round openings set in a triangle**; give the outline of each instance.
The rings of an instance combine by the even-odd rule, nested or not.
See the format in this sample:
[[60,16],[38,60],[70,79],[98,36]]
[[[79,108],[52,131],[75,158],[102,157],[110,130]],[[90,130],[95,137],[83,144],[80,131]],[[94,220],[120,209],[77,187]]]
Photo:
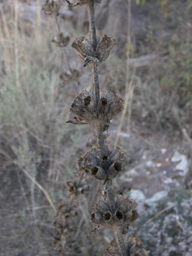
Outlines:
[[119,147],[105,144],[106,155],[101,155],[97,149],[88,151],[84,156],[84,167],[92,176],[100,180],[111,180],[122,171],[122,163],[127,159],[125,151]]

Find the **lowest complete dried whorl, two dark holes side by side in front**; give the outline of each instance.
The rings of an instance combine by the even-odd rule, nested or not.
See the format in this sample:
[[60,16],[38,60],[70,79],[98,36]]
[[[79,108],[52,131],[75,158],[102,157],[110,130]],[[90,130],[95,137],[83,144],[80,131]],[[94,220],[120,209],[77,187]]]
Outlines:
[[139,217],[135,210],[137,205],[132,199],[118,195],[115,198],[116,211],[113,214],[109,209],[108,200],[100,200],[91,209],[91,221],[107,228],[111,224],[120,226],[125,234],[131,223]]

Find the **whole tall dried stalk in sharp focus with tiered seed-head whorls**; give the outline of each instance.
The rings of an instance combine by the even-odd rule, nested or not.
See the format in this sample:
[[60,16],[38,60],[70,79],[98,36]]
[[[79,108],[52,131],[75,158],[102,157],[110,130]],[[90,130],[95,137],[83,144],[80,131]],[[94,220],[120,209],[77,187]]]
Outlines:
[[110,120],[124,109],[122,99],[114,91],[100,92],[98,80],[98,65],[108,58],[117,40],[110,34],[104,35],[100,40],[96,30],[95,6],[101,0],[80,0],[77,3],[66,1],[71,7],[86,6],[89,22],[90,38],[87,39],[83,35],[77,37],[72,47],[84,61],[84,67],[87,64],[91,67],[93,89],[91,92],[83,90],[75,98],[70,111],[77,117],[67,121],[78,125],[89,124],[94,128],[97,148],[85,154],[83,166],[92,176],[102,180],[104,201],[100,200],[92,207],[91,221],[98,225],[89,235],[104,228],[111,228],[114,240],[107,249],[108,253],[113,256],[139,256],[142,244],[125,235],[130,224],[139,216],[135,210],[137,203],[120,195],[114,197],[112,191],[112,180],[122,171],[122,163],[126,160],[125,152],[119,147],[108,147],[103,139],[103,132],[108,129]]

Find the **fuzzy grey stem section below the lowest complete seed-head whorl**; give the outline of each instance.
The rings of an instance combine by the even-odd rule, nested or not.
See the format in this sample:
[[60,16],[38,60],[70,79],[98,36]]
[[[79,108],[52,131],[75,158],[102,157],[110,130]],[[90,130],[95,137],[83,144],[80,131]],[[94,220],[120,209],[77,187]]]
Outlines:
[[112,225],[111,228],[115,237],[115,242],[117,244],[118,254],[120,253],[121,256],[126,256],[127,254],[121,228],[117,225]]

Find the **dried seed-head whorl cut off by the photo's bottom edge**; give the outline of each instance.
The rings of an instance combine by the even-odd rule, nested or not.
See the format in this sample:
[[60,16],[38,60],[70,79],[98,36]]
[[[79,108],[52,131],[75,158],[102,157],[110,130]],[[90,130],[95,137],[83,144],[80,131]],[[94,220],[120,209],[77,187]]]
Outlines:
[[[126,255],[127,256],[141,256],[140,251],[143,248],[143,245],[136,241],[136,238],[134,237],[126,237],[123,236],[125,249],[126,249]],[[111,241],[110,245],[107,248],[107,252],[111,256],[121,256],[118,253],[117,244],[115,242],[115,239]]]

